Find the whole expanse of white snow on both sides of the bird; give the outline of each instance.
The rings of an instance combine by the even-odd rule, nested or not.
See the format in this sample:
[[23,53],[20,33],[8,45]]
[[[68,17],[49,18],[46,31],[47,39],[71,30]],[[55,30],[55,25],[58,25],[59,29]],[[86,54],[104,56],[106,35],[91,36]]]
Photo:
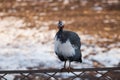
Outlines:
[[[56,23],[56,22],[55,22]],[[67,22],[66,22],[67,23]],[[0,19],[0,69],[27,69],[28,67],[60,68],[63,63],[54,53],[54,36],[56,30],[49,30],[49,25],[39,29],[25,28],[24,20],[15,17]],[[93,36],[81,35],[83,63],[73,63],[76,68],[93,67],[92,60],[104,66],[117,66],[120,62],[120,43],[111,44],[111,49],[96,44],[87,44],[87,40],[95,40]]]

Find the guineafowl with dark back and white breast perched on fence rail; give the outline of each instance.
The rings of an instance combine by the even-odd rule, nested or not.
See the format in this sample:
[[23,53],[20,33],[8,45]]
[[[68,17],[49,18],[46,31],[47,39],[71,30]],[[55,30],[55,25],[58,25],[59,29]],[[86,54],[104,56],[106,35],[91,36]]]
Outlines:
[[[54,51],[57,57],[64,62],[62,69],[73,69],[71,62],[82,62],[80,37],[73,31],[64,30],[64,23],[59,20],[58,32],[54,38]],[[69,61],[69,66],[66,68],[66,61]]]

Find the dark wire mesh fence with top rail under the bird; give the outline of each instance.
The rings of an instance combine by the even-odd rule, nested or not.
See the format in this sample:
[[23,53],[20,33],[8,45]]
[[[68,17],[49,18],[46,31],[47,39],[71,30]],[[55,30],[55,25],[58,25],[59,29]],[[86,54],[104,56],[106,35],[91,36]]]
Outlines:
[[[68,76],[64,78],[61,76],[63,73],[67,73]],[[120,67],[82,68],[69,72],[61,69],[1,70],[0,80],[10,80],[7,76],[13,74],[14,80],[120,80]],[[97,74],[100,76],[96,76]]]

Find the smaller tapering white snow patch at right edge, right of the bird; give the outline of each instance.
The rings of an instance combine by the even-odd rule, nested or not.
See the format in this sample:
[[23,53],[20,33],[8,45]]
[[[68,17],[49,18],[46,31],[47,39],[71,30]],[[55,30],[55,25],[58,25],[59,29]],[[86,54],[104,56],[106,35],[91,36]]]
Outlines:
[[117,66],[120,62],[120,49],[113,48],[107,53],[100,53],[97,56],[90,56],[89,58],[100,62],[106,67]]

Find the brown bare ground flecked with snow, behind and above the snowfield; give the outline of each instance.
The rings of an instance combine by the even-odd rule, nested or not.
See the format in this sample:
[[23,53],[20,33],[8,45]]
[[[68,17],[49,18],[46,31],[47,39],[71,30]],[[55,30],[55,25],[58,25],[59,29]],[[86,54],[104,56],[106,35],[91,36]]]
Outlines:
[[[26,28],[39,28],[39,22],[63,20],[69,22],[65,24],[67,29],[120,41],[119,0],[0,0],[0,13],[1,19],[24,19]],[[55,24],[49,27],[56,29]]]

